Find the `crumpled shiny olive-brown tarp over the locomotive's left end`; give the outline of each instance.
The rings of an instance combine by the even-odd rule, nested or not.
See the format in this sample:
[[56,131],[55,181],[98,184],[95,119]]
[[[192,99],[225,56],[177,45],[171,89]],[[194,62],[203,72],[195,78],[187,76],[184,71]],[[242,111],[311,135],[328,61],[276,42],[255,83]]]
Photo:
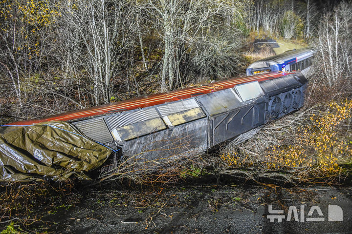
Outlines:
[[66,179],[98,168],[110,156],[107,147],[83,137],[69,123],[46,122],[0,128],[0,182]]

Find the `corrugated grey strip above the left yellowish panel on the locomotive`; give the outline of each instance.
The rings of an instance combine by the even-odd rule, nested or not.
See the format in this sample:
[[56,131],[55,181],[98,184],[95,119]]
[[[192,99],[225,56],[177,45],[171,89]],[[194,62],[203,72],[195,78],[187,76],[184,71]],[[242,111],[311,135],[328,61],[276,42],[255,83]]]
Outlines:
[[160,117],[156,109],[147,108],[105,117],[110,130]]

